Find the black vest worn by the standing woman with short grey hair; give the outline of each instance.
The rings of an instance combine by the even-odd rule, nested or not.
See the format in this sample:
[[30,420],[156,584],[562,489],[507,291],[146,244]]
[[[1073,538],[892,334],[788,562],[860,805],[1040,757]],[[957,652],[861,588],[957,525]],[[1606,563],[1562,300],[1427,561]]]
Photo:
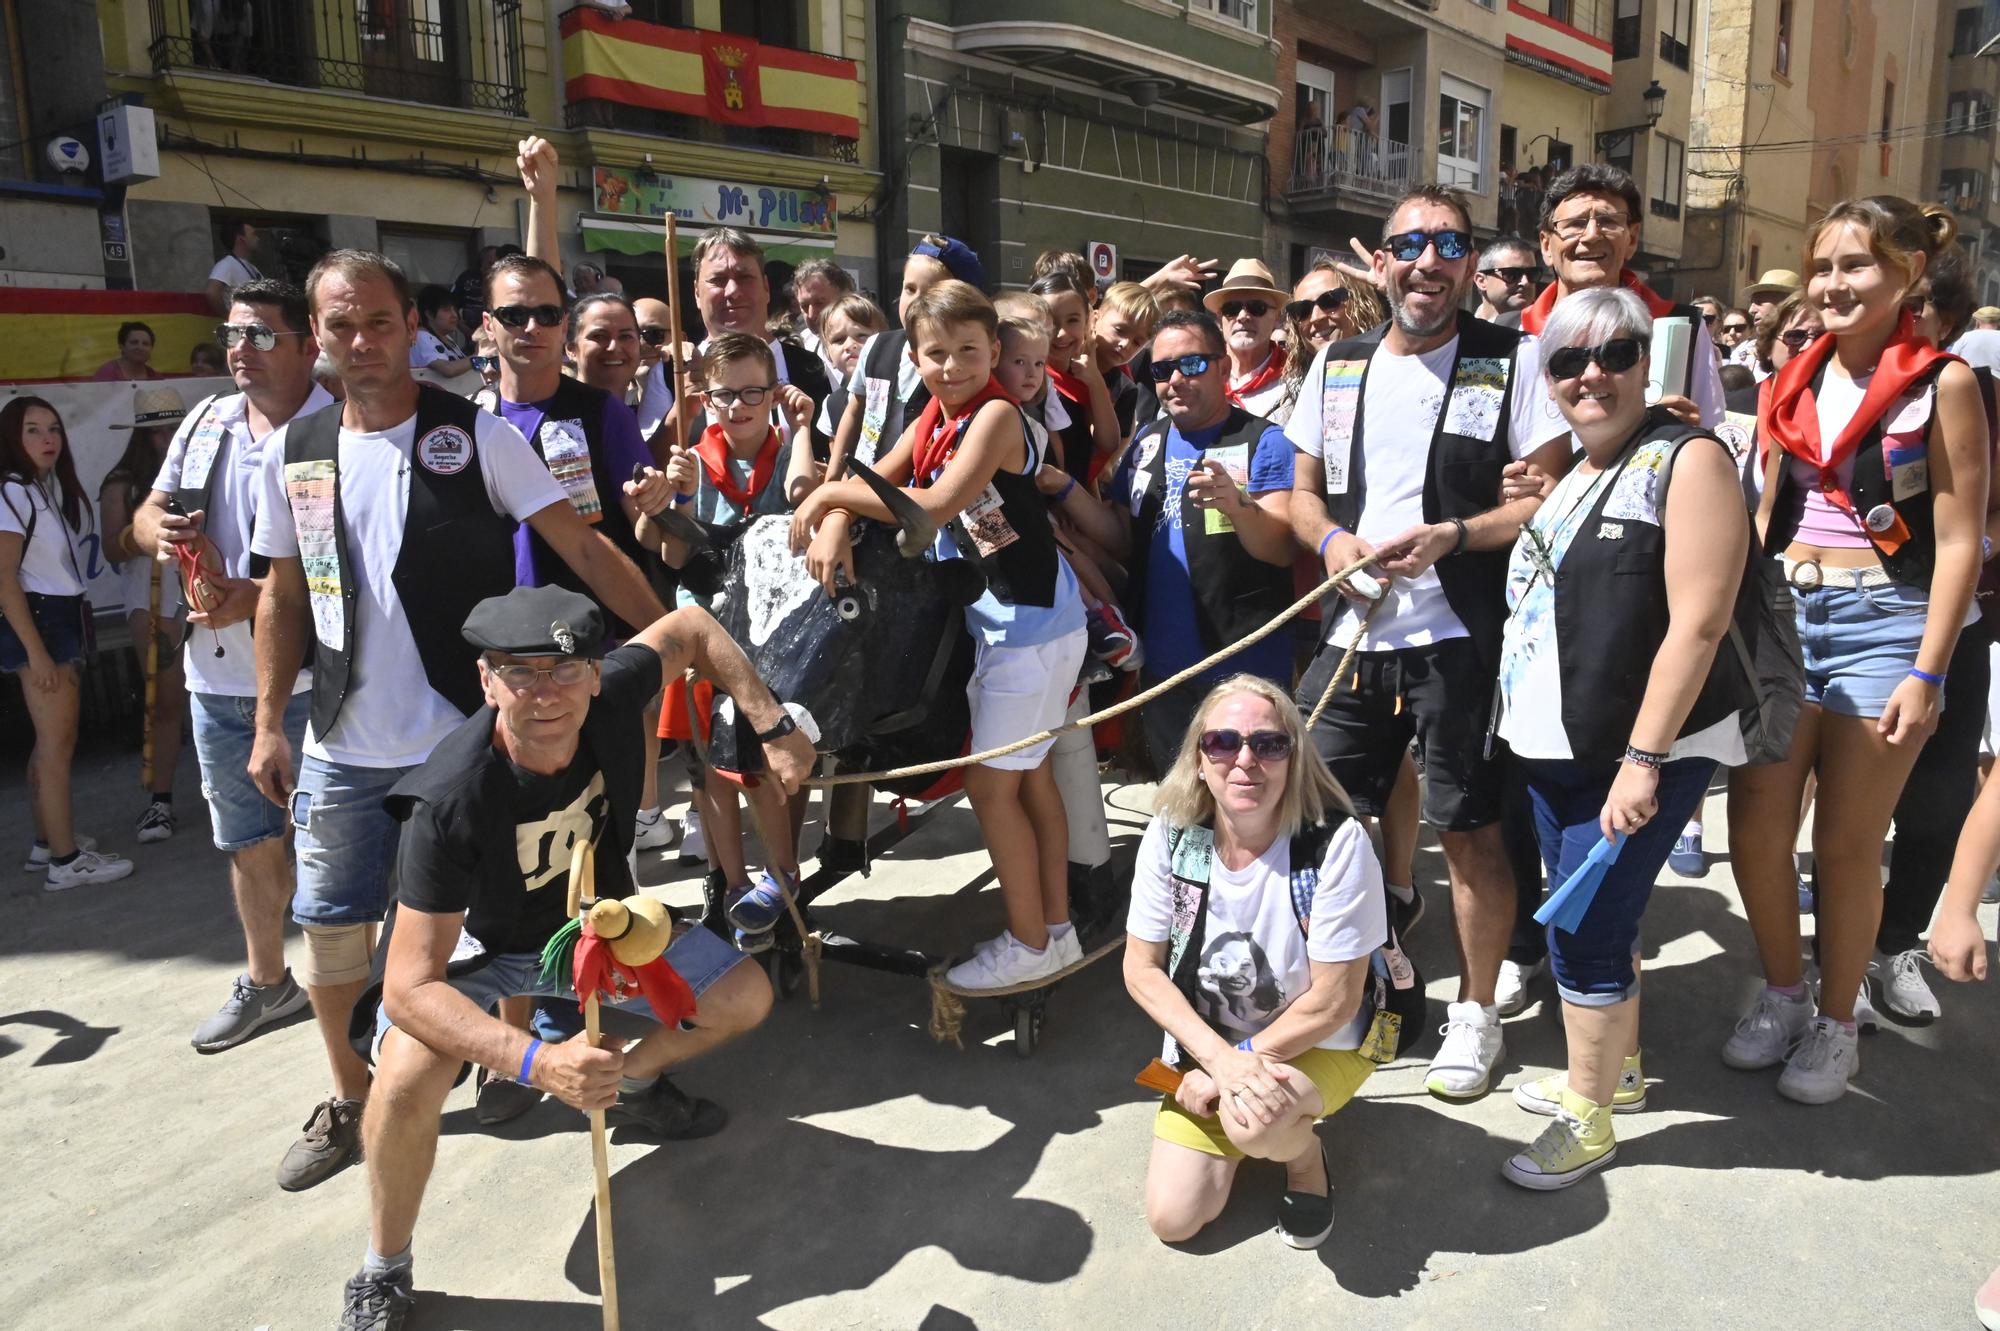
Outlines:
[[[1692,430],[1670,412],[1652,408],[1626,444],[1612,472],[1644,444],[1670,440],[1672,450],[1714,436]],[[1696,444],[1700,448],[1700,444]],[[1670,454],[1672,456],[1672,454]],[[1616,763],[1632,741],[1632,723],[1646,699],[1652,660],[1666,642],[1666,496],[1656,494],[1660,524],[1604,520],[1618,480],[1604,482],[1556,570],[1556,662],[1562,671],[1562,731],[1570,753],[1586,763]],[[1750,580],[1736,588],[1738,602],[1756,594]],[[1742,622],[1742,620],[1738,620]],[[1736,654],[1724,644],[1708,662],[1680,735],[1708,729],[1722,717],[1750,707],[1756,697]]]

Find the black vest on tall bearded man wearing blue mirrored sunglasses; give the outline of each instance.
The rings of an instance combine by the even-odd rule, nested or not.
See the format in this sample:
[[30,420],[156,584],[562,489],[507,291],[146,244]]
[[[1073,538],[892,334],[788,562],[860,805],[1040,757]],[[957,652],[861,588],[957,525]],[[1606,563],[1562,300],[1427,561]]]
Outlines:
[[[1334,342],[1326,348],[1322,364],[1332,366],[1340,360],[1370,362],[1376,348],[1382,346],[1382,336],[1388,328],[1388,324],[1380,324],[1358,338]],[[1514,392],[1520,388],[1514,374],[1514,352],[1520,348],[1520,332],[1476,320],[1460,310],[1458,354],[1452,362],[1452,374],[1444,384],[1444,400],[1438,404],[1438,424],[1430,436],[1430,466],[1424,472],[1424,522],[1476,518],[1500,506],[1500,470],[1512,462],[1508,432],[1514,422]],[[1446,434],[1444,430],[1444,422],[1452,414],[1452,392],[1458,386],[1460,368],[1468,360],[1504,360],[1508,366],[1494,438],[1490,440]],[[1530,384],[1526,392],[1536,392],[1536,386]],[[1362,468],[1362,434],[1366,428],[1362,404],[1366,400],[1368,370],[1362,370],[1360,386],[1354,390],[1354,436],[1346,460],[1346,490],[1342,494],[1328,492],[1326,496],[1328,516],[1350,532],[1360,526],[1366,502],[1366,472]],[[1328,442],[1326,448],[1332,450],[1334,444]],[[1334,478],[1332,466],[1326,468],[1326,476],[1328,480]],[[1466,626],[1466,634],[1472,636],[1472,644],[1478,648],[1480,660],[1488,669],[1500,664],[1500,628],[1506,622],[1506,550],[1462,550],[1436,564],[1438,582],[1444,586],[1444,600],[1450,604],[1452,614],[1458,616],[1458,622]],[[1330,632],[1332,626],[1334,616],[1328,614],[1322,634]]]

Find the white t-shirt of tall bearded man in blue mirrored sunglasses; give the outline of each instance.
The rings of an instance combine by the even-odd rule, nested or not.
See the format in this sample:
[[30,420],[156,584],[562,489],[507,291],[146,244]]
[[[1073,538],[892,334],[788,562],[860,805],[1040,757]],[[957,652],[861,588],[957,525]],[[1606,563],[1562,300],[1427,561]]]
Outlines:
[[[1362,426],[1362,516],[1354,534],[1370,546],[1380,546],[1424,522],[1430,438],[1438,428],[1438,412],[1444,408],[1456,356],[1458,338],[1452,338],[1424,356],[1396,356],[1386,346],[1378,346],[1368,362],[1368,382],[1360,404],[1360,422],[1366,422]],[[1550,414],[1552,404],[1540,384],[1540,348],[1534,338],[1522,338],[1520,350],[1514,354],[1510,420],[1506,422],[1510,458],[1526,458],[1570,430],[1560,414]],[[1326,348],[1320,348],[1320,354],[1312,358],[1312,368],[1306,370],[1306,382],[1298,386],[1298,404],[1284,426],[1284,436],[1300,452],[1314,458],[1322,456],[1326,438],[1324,396]],[[1486,434],[1498,430],[1500,422],[1496,420],[1480,422],[1480,400],[1466,398],[1460,404],[1454,394],[1452,410],[1464,418],[1454,424]],[[1336,462],[1346,464],[1344,458]],[[1496,492],[1494,508],[1498,506]],[[1424,570],[1410,582],[1392,578],[1386,596],[1388,604],[1368,624],[1366,650],[1428,648],[1466,636],[1466,626],[1458,622],[1452,606],[1444,600],[1444,584],[1438,582],[1436,568]],[[1360,614],[1342,600],[1332,644],[1336,648],[1352,644],[1358,626]]]

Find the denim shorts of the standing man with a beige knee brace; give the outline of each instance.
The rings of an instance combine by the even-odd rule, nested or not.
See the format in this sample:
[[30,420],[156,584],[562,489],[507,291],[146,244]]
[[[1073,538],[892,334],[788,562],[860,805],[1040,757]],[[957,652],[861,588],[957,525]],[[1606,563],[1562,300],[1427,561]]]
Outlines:
[[414,767],[350,767],[306,753],[292,791],[302,925],[376,923],[388,911],[402,823],[382,797]]

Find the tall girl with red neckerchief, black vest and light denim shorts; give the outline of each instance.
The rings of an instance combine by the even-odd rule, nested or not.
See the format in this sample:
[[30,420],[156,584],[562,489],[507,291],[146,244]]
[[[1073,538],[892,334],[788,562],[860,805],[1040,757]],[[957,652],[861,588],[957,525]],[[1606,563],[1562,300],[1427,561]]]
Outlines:
[[[1882,917],[1882,841],[1938,719],[1972,606],[1986,516],[1978,382],[1904,308],[1956,224],[1938,206],[1850,200],[1806,238],[1806,300],[1826,334],[1798,348],[1758,412],[1758,530],[1798,610],[1806,705],[1780,763],[1730,781],[1736,883],[1764,989],[1722,1047],[1730,1067],[1784,1065],[1778,1093],[1838,1099],[1860,1069],[1856,1005]],[[1818,1003],[1806,991],[1792,847],[1812,819]]]

